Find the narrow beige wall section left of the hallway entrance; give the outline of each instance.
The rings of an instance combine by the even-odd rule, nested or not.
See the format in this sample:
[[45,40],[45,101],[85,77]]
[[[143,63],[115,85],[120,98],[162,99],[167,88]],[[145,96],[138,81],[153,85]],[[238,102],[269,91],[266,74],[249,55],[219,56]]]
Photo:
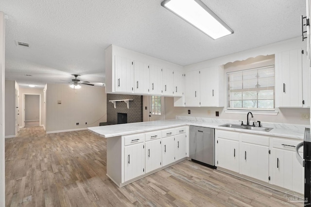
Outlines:
[[5,80],[5,137],[15,136],[15,80]]

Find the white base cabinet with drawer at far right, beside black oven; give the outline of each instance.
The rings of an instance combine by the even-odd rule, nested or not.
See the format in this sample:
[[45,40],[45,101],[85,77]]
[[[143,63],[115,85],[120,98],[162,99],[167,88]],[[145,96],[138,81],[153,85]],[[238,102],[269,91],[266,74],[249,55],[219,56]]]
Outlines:
[[[304,168],[296,159],[295,147],[299,141],[273,139],[271,152],[271,182],[282,188],[304,192]],[[301,151],[302,156],[302,151]]]

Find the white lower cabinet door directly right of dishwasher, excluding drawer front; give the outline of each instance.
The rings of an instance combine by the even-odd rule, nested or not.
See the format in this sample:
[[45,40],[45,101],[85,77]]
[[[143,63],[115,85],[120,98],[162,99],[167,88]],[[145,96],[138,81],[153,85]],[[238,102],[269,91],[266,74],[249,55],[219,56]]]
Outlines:
[[239,142],[217,139],[218,166],[239,173]]

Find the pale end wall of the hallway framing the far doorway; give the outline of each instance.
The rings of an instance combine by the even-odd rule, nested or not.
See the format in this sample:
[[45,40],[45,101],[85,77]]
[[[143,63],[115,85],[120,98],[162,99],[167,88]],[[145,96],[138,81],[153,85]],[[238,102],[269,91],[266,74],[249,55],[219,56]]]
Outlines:
[[44,89],[37,89],[37,88],[21,88],[19,87],[19,127],[24,127],[24,95],[31,94],[31,95],[40,95],[40,105],[41,105],[41,123],[40,126],[46,127],[45,123],[42,120],[45,120],[45,103],[44,103]]

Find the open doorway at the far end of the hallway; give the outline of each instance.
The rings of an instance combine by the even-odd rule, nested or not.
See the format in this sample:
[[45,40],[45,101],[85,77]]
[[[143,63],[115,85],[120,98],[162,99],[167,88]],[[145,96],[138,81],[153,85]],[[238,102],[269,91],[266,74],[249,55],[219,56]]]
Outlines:
[[40,95],[24,95],[24,127],[40,126]]

